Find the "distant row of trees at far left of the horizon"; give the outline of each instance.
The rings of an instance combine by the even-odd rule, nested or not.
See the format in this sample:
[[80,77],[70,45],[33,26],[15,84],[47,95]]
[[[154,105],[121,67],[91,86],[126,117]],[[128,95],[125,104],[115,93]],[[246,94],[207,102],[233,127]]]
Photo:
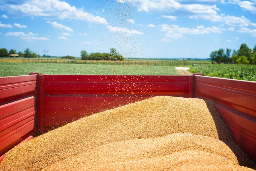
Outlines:
[[18,53],[16,52],[15,49],[11,49],[11,50],[9,50],[9,52],[5,48],[0,49],[0,57],[9,57],[9,55],[11,55],[11,54],[18,54],[19,57],[33,57],[33,58],[40,57],[40,55],[30,51],[29,48],[26,48],[26,50],[24,50],[24,52],[20,51]]

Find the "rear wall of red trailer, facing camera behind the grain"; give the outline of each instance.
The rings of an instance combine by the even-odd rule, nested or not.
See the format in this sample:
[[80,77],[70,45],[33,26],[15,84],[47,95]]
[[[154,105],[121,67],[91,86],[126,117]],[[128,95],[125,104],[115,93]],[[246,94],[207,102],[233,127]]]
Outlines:
[[44,75],[43,79],[45,130],[152,96],[192,94],[188,75]]

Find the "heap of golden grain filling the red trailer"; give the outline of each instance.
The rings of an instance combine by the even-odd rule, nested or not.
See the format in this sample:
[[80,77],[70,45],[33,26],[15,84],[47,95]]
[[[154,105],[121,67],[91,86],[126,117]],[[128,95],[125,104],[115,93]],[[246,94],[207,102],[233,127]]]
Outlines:
[[156,96],[87,116],[9,151],[0,170],[253,170],[214,108]]

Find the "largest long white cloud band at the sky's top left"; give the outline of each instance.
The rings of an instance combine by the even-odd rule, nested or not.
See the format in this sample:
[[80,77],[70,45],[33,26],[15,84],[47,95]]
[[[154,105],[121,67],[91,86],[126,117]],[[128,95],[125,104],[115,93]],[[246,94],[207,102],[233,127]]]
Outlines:
[[71,18],[83,20],[91,23],[108,24],[105,18],[94,16],[84,11],[83,8],[76,8],[69,5],[65,1],[59,0],[28,0],[23,4],[5,4],[1,5],[3,11],[7,11],[12,14],[20,16],[30,17],[53,17],[59,19]]

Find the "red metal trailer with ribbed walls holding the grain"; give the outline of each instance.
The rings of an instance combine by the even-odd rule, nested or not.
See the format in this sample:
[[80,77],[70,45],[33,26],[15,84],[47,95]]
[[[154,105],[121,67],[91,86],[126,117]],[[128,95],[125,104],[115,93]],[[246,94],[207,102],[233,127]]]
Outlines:
[[12,147],[69,122],[152,96],[215,100],[240,148],[256,162],[256,82],[193,75],[0,77],[0,161]]

